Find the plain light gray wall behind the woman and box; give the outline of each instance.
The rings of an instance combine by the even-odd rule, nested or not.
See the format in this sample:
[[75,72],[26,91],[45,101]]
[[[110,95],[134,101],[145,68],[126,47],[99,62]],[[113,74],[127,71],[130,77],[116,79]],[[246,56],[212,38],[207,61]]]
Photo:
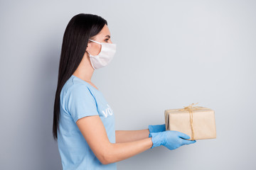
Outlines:
[[61,169],[53,101],[63,33],[78,13],[109,23],[114,60],[92,82],[117,130],[164,123],[190,103],[217,138],[148,149],[117,169],[256,169],[255,1],[1,1],[0,169]]

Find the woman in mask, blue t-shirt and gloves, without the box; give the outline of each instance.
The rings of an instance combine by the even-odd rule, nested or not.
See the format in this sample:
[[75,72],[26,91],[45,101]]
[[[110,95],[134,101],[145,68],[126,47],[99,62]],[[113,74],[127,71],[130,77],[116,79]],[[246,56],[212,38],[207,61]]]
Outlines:
[[165,124],[115,131],[112,108],[91,78],[95,69],[110,63],[116,46],[100,16],[80,13],[65,29],[53,116],[53,137],[64,170],[117,169],[116,162],[146,149],[196,142],[181,132],[165,131]]

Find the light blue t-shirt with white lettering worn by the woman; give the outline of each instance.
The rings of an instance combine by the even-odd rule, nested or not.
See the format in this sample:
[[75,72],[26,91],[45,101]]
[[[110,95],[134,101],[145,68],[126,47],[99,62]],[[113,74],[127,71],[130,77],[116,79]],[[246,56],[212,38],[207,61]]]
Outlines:
[[102,164],[82,136],[76,121],[99,115],[107,137],[115,143],[114,113],[103,94],[86,81],[72,75],[60,92],[58,150],[63,170],[117,169],[117,163]]

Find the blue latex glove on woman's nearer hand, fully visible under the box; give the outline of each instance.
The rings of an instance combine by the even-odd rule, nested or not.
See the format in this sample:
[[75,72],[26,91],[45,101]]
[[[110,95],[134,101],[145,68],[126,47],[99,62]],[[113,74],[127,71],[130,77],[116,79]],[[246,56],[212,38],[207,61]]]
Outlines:
[[164,147],[173,150],[181,147],[182,145],[189,145],[196,142],[196,140],[188,140],[191,138],[190,136],[176,130],[152,132],[149,133],[149,137],[152,137],[151,140],[153,142],[153,145],[150,149],[163,145]]

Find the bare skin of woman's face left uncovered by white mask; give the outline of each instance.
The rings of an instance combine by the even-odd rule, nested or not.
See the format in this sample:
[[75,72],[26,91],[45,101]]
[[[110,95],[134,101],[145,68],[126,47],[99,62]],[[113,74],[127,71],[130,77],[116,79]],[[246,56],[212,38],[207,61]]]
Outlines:
[[[97,35],[95,35],[93,38],[90,38],[90,39],[95,40],[97,42],[112,43],[112,41],[110,40],[110,30],[106,24],[102,28],[100,33],[98,33]],[[98,44],[96,42],[89,41],[86,51],[89,52],[91,55],[98,55],[100,53],[100,49],[101,49],[100,44]]]

